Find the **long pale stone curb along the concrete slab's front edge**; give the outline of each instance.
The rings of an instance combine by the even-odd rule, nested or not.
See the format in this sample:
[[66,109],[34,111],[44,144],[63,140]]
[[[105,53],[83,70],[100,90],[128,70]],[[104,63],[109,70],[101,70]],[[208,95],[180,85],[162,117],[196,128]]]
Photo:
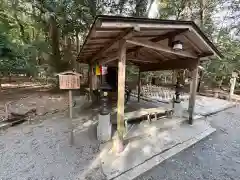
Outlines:
[[187,149],[188,147],[196,144],[198,141],[211,135],[215,131],[216,131],[216,129],[214,129],[214,128],[208,128],[207,130],[198,134],[196,137],[191,138],[185,142],[182,142],[181,144],[178,144],[177,146],[154,156],[153,158],[143,162],[142,164],[135,167],[134,169],[132,169],[116,178],[113,178],[112,180],[131,180],[131,179],[137,178],[141,174],[143,174],[143,173],[149,171],[150,169],[152,169],[153,167],[159,165],[166,159],[176,155],[177,153]]

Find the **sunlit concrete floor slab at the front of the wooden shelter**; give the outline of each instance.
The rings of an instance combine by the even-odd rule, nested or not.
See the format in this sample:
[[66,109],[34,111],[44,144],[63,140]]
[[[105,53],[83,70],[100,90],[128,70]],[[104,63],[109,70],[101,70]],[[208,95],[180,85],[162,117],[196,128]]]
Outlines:
[[134,179],[215,131],[204,120],[195,121],[192,126],[178,124],[167,130],[159,125],[145,125],[142,134],[127,135],[121,154],[115,154],[109,147],[103,151],[101,162],[107,179]]

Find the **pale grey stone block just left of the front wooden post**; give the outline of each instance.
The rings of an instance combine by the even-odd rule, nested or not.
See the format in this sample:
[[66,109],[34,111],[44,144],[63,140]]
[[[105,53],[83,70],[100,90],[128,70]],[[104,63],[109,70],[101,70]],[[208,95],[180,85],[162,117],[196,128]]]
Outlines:
[[110,114],[98,115],[97,138],[100,142],[106,142],[111,139],[112,124]]

